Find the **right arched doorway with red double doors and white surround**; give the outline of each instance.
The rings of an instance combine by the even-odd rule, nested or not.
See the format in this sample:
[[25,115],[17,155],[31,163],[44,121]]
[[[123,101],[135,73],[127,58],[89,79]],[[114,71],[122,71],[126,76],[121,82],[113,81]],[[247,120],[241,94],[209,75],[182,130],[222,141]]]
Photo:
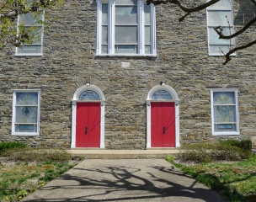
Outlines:
[[179,98],[157,85],[147,95],[147,148],[179,147]]

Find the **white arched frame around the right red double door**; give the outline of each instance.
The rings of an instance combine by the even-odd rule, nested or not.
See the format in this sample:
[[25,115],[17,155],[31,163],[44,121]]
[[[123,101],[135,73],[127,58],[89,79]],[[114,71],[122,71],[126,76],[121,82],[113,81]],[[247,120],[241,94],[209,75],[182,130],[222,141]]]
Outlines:
[[[165,90],[173,97],[171,100],[154,100],[152,95],[159,90]],[[152,102],[174,102],[175,103],[175,147],[179,147],[179,98],[175,90],[165,84],[157,85],[147,94],[147,149],[151,148],[151,103]]]

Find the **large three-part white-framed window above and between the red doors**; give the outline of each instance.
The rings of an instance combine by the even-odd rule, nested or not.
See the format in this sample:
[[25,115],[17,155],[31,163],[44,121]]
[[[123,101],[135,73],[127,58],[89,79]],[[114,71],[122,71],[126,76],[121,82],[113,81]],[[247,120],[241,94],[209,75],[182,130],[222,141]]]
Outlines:
[[143,0],[97,1],[99,56],[156,56],[155,8]]

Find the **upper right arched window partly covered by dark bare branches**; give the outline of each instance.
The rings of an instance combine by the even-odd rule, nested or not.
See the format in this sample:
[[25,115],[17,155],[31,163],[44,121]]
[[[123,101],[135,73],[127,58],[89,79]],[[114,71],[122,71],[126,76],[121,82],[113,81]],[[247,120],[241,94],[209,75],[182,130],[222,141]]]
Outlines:
[[221,0],[208,7],[207,24],[209,55],[221,56],[223,53],[227,53],[235,45],[234,39],[219,39],[219,35],[213,28],[221,26],[224,35],[234,33],[232,3],[229,0]]

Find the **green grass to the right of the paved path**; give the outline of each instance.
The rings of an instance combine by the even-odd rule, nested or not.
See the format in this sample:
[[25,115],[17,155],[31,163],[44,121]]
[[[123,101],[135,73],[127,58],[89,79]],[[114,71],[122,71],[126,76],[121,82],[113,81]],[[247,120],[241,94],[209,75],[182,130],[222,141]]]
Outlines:
[[256,201],[256,155],[241,162],[208,162],[187,165],[175,162],[171,156],[168,162],[179,167],[231,201]]

